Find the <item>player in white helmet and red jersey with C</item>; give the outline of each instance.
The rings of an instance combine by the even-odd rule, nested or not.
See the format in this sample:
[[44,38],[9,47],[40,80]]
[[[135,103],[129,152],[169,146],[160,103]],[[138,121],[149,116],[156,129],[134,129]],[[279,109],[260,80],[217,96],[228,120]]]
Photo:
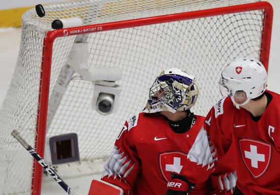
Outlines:
[[220,188],[234,187],[236,170],[234,194],[280,194],[280,96],[266,88],[267,72],[261,62],[248,58],[231,62],[220,78],[225,97],[205,120],[218,158],[215,174]]

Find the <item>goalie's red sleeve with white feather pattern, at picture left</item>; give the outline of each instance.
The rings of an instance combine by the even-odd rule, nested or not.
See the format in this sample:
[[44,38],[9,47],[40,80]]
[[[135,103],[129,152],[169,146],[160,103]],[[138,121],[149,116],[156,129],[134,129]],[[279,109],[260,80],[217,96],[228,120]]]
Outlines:
[[117,137],[113,152],[104,165],[101,178],[103,181],[122,188],[124,195],[133,195],[133,185],[142,169],[137,151],[129,143],[129,130],[131,128],[129,123],[129,120],[126,121]]

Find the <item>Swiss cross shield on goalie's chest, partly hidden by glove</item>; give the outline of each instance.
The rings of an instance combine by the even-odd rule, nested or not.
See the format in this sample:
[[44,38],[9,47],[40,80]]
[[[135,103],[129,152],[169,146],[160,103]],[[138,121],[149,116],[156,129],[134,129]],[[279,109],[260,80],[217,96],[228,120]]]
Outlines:
[[182,173],[183,164],[187,163],[187,154],[179,151],[162,152],[159,154],[160,172],[163,178],[169,182],[171,173]]

